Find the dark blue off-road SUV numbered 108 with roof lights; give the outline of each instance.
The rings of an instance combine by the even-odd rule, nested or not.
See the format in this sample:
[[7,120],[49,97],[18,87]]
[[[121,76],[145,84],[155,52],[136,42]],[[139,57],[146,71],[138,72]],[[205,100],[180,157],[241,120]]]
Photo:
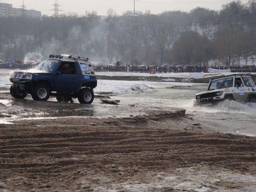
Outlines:
[[34,100],[46,101],[56,96],[61,101],[91,104],[97,79],[88,58],[72,55],[50,55],[36,68],[14,71],[10,76],[10,94],[23,99],[30,94]]

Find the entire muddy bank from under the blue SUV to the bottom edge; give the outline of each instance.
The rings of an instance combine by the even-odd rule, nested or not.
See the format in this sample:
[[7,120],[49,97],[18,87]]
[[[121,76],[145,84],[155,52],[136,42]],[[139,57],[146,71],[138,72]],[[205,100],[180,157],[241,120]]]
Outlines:
[[98,99],[92,110],[125,111],[126,116],[52,113],[52,118],[29,119],[39,108],[83,106],[0,94],[0,100],[8,100],[0,104],[9,112],[2,118],[11,120],[22,109],[26,114],[0,124],[0,191],[256,190],[255,137],[215,132],[184,110],[117,107]]

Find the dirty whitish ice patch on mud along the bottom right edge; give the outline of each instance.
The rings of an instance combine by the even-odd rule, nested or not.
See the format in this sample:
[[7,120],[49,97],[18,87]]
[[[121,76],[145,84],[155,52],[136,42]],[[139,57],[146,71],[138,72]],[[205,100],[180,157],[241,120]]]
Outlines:
[[172,173],[148,172],[143,179],[130,178],[126,182],[111,183],[90,182],[93,191],[130,192],[163,192],[163,191],[194,191],[194,192],[248,192],[256,189],[256,176],[243,172],[234,172],[226,168],[198,165],[190,168],[179,168]]

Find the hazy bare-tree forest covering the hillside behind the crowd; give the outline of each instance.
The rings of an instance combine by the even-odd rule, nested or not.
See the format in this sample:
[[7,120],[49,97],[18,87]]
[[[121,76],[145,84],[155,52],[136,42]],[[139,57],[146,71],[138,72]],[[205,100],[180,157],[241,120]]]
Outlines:
[[118,16],[109,9],[106,18],[94,11],[41,20],[0,18],[0,59],[74,54],[103,64],[255,64],[256,0],[232,1],[220,11],[136,14]]

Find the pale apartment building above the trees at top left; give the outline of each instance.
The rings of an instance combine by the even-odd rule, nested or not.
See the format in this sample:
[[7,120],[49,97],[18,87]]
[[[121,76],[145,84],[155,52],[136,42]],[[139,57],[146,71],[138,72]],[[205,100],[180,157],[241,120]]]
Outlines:
[[22,8],[12,8],[12,4],[0,3],[0,17],[21,17],[28,16],[41,18],[41,12],[36,10],[23,10]]

